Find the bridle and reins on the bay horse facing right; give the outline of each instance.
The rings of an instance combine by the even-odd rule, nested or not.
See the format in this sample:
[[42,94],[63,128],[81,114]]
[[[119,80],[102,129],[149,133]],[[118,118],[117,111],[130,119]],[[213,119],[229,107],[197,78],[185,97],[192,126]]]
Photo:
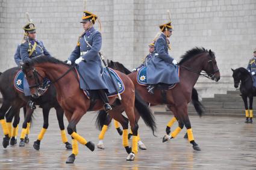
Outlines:
[[[198,56],[201,55],[201,53],[198,54]],[[213,65],[213,58],[215,58],[215,56],[210,56],[208,55],[209,60],[207,61],[208,65],[210,64],[210,67],[212,68],[213,71],[211,71],[211,73],[207,73],[206,71],[197,71],[194,70],[193,68],[189,68],[186,67],[184,65],[180,65],[180,67],[185,68],[186,70],[192,71],[193,73],[199,74],[199,76],[204,76],[207,77],[208,79],[214,80],[215,78],[215,73],[217,73],[217,71],[219,71],[219,69],[214,70],[214,65]]]

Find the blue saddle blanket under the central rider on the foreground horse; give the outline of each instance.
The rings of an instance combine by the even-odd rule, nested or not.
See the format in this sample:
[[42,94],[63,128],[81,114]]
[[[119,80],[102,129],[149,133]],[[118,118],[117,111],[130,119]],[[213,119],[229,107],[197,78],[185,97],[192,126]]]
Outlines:
[[[117,73],[113,70],[113,69],[111,69],[111,68],[108,68],[109,70],[110,70],[110,73],[111,73],[111,76],[113,77],[113,80],[114,81],[116,81],[116,83],[117,83],[117,90],[119,91],[119,93],[120,94],[122,94],[123,93],[123,91],[125,91],[125,85],[123,84],[123,81],[122,81],[122,79],[117,75]],[[77,71],[77,73],[78,73],[78,70],[76,69],[76,71]],[[105,73],[107,73],[107,68],[104,68],[104,70],[103,70]],[[78,74],[79,75],[79,74]],[[107,75],[108,75],[108,73],[107,73]],[[111,85],[109,85],[109,86],[114,86],[113,85],[113,83],[111,83]],[[112,89],[114,89],[114,88],[112,88]],[[89,93],[89,91],[87,91],[87,90],[83,90],[84,91],[84,93],[86,94],[86,96],[88,97],[88,98],[90,98],[90,93]],[[110,93],[107,93],[107,96],[108,97],[111,97],[111,96],[115,96],[117,93],[116,93],[116,91],[110,91]]]

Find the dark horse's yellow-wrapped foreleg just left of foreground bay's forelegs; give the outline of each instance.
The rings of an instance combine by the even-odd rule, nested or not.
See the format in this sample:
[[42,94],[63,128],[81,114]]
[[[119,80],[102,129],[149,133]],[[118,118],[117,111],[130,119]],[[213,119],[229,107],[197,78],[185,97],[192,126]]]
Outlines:
[[56,115],[58,119],[58,126],[60,127],[61,140],[63,144],[66,145],[67,150],[72,150],[72,145],[67,141],[67,135],[65,132],[65,126],[63,122],[64,111],[60,106],[55,107],[55,110],[56,110]]

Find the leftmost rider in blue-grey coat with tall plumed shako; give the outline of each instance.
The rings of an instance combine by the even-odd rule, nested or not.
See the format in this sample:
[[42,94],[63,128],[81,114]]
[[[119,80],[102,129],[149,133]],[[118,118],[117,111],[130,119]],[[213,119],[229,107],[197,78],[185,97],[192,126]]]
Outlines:
[[[30,19],[28,13],[26,13],[26,15],[28,18],[28,23],[25,26],[23,26],[25,34],[22,39],[22,43],[20,44],[20,47],[17,47],[16,54],[14,55],[15,62],[18,66],[20,65],[20,59],[18,55],[19,50],[22,62],[29,61],[31,58],[40,55],[51,56],[48,50],[46,50],[45,46],[43,45],[43,41],[39,41],[36,39],[36,26]],[[30,88],[25,77],[23,87],[25,96],[31,96]],[[32,97],[28,101],[28,104],[31,106],[31,108],[36,109]]]

